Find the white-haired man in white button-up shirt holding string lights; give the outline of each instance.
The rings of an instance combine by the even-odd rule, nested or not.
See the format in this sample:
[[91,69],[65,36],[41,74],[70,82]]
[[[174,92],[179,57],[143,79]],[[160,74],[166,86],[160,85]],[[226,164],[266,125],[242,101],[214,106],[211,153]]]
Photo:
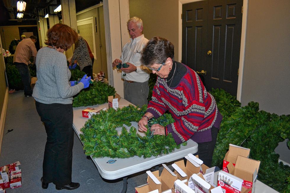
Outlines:
[[132,17],[127,22],[130,41],[123,47],[120,59],[115,59],[112,67],[119,63],[128,64],[128,68],[121,68],[121,78],[124,80],[124,98],[130,103],[141,107],[147,105],[150,70],[140,63],[140,53],[148,42],[142,34],[143,22],[138,17]]

